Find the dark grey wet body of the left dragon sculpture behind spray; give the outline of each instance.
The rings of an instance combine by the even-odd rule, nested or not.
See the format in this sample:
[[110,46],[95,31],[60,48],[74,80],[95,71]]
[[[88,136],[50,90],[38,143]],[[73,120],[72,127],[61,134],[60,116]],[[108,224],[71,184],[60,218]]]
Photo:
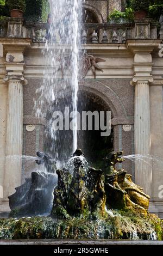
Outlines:
[[49,214],[53,204],[53,190],[57,183],[54,174],[41,171],[32,172],[32,178],[16,188],[9,197],[10,217]]

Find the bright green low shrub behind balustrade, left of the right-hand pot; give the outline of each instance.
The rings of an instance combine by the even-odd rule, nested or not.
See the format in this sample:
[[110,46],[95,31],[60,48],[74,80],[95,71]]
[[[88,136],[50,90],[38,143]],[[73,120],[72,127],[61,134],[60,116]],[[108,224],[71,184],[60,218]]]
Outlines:
[[126,20],[127,22],[134,20],[134,11],[129,7],[126,8],[125,11],[118,11],[114,9],[112,13],[109,15],[108,20],[114,20],[116,22],[120,20]]

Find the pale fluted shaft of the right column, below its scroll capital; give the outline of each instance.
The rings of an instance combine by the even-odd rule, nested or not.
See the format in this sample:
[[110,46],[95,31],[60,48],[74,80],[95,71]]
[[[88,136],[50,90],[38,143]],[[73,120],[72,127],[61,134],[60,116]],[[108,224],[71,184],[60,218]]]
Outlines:
[[151,122],[149,81],[135,83],[135,182],[152,194]]

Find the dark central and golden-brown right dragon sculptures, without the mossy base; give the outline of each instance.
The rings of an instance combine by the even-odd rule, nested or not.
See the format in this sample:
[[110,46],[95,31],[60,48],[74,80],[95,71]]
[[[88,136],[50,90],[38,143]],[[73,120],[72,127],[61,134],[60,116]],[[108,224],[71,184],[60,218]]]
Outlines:
[[115,164],[124,161],[122,152],[112,152],[106,158],[104,170],[89,168],[85,172],[82,150],[76,150],[73,175],[68,170],[58,170],[58,186],[54,190],[51,212],[54,218],[102,218],[105,208],[133,210],[146,213],[149,197],[131,181],[131,175],[116,170]]

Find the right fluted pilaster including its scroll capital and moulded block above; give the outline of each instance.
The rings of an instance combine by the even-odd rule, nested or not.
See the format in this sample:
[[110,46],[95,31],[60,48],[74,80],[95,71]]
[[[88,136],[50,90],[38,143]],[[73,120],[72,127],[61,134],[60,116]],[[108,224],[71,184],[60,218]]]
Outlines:
[[135,86],[135,182],[152,196],[151,113],[149,84],[153,82],[152,46],[132,46]]

